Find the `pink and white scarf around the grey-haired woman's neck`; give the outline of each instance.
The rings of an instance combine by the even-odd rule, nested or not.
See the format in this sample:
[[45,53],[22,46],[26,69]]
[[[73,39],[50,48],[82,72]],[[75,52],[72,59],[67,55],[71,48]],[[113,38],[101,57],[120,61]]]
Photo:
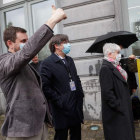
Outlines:
[[109,57],[105,57],[104,58],[105,60],[107,60],[108,62],[111,62],[115,67],[116,69],[121,73],[121,75],[123,76],[123,78],[127,81],[127,73],[126,71],[120,66],[120,63],[112,58],[109,58]]

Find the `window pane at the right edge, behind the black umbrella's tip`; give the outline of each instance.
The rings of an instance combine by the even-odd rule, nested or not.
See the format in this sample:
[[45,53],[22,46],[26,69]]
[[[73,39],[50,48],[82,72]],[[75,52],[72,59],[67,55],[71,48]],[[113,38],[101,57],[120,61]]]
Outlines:
[[[128,0],[130,30],[136,33],[140,40],[140,0]],[[132,53],[140,56],[140,41],[132,45]]]

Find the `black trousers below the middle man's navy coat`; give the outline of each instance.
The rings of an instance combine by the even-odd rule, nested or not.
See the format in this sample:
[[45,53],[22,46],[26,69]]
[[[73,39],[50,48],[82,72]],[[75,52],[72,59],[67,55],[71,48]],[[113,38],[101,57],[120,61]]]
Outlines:
[[67,140],[68,130],[70,140],[81,140],[81,123],[70,126],[65,129],[55,129],[54,140]]

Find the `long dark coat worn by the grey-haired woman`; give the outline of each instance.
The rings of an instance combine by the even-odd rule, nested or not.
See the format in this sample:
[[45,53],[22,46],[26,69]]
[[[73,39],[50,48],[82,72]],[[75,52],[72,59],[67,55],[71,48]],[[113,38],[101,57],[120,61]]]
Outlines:
[[127,82],[104,60],[100,71],[105,140],[135,140],[132,105]]

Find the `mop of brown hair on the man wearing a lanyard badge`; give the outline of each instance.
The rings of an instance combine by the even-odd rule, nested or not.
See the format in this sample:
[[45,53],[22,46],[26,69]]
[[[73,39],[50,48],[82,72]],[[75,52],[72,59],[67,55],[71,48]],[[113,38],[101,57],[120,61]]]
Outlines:
[[64,34],[57,34],[57,35],[54,35],[51,40],[50,40],[50,43],[49,43],[49,48],[50,48],[50,51],[52,53],[55,52],[55,44],[57,45],[60,45],[61,43],[63,43],[64,41],[69,41],[69,38],[67,35],[64,35]]

